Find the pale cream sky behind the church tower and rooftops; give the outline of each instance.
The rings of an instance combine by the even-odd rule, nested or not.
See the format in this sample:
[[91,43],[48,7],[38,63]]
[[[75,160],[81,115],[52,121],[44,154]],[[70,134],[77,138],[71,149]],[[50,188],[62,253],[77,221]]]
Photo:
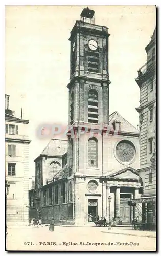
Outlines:
[[[42,124],[68,124],[70,32],[86,6],[6,6],[5,93],[10,109],[29,120],[29,175],[48,144]],[[88,6],[95,24],[109,28],[109,112],[118,111],[137,127],[140,90],[137,70],[146,63],[146,45],[155,28],[155,6]],[[57,138],[62,139],[61,136]],[[64,137],[63,137],[64,138]]]

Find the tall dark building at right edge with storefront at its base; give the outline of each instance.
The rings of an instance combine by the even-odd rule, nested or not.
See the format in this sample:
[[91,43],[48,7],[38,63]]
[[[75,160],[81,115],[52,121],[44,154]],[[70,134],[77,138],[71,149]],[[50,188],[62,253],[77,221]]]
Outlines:
[[144,194],[132,201],[142,203],[142,221],[147,229],[153,229],[156,222],[156,28],[145,50],[147,62],[135,79],[140,88],[140,106],[136,110],[140,119],[140,178]]

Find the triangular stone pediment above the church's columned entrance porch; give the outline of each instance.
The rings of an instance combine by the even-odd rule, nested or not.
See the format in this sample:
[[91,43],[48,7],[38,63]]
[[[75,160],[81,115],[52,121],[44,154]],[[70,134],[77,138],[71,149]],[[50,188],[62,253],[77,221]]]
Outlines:
[[139,173],[137,170],[127,167],[117,172],[111,173],[106,176],[107,178],[118,178],[118,179],[139,179]]

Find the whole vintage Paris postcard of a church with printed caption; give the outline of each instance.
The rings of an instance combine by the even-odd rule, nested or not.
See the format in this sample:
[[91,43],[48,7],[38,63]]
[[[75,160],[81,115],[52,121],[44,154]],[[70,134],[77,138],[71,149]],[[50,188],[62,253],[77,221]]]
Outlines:
[[156,6],[5,7],[7,251],[156,251]]

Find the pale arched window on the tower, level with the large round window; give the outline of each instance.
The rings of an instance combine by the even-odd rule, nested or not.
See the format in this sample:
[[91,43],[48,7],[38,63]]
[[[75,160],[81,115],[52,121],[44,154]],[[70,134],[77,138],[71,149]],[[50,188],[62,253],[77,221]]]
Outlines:
[[98,140],[95,137],[88,140],[88,166],[98,167]]

